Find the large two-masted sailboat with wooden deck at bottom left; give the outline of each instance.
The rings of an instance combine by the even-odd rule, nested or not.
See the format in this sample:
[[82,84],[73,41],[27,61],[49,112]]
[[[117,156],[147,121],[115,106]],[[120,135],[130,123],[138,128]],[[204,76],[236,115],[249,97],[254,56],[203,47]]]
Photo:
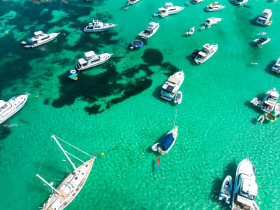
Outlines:
[[[52,136],[52,139],[57,143],[61,151],[64,153],[66,156],[68,162],[71,163],[74,171],[66,178],[64,181],[62,181],[59,186],[54,188],[51,183],[48,183],[43,179],[42,176],[39,174],[36,174],[36,176],[43,181],[47,186],[49,186],[52,189],[52,194],[50,197],[47,199],[47,202],[43,204],[43,210],[62,210],[65,209],[68,204],[70,204],[75,197],[80,193],[82,190],[82,187],[84,186],[84,183],[87,181],[89,178],[89,174],[91,172],[92,166],[94,165],[94,160],[96,158],[96,155],[92,156],[89,155],[88,153],[85,153],[84,151],[80,150],[79,148],[69,144],[67,141],[64,141],[63,139],[60,139],[59,137]],[[75,157],[71,153],[68,153],[68,151],[65,151],[64,148],[62,148],[61,144],[57,139],[60,139],[61,141],[64,141],[66,144],[69,146],[72,146],[73,148],[77,149],[78,151],[84,153],[85,155],[88,155],[90,157],[87,162],[83,162],[79,158]],[[72,160],[69,158],[68,155],[71,155],[71,157],[76,158],[77,160],[80,160],[82,162],[82,165],[79,167],[76,167],[75,164],[72,162]]]

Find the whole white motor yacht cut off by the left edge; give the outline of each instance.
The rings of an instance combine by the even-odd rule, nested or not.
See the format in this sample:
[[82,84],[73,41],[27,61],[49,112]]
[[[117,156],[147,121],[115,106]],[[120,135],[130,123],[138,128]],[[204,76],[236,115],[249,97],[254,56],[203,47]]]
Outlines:
[[28,96],[29,94],[22,94],[12,97],[8,102],[0,100],[0,125],[22,109],[27,102]]

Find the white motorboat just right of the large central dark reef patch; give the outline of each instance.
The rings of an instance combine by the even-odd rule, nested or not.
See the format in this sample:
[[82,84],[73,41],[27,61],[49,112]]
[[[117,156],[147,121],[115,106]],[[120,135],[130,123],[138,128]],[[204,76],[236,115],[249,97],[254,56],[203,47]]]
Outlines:
[[178,71],[168,78],[161,87],[161,97],[168,101],[174,99],[175,94],[184,82],[184,72]]

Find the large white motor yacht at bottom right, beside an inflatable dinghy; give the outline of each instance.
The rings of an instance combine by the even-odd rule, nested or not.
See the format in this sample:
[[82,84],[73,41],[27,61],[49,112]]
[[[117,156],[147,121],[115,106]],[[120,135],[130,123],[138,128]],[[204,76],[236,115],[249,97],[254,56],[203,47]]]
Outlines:
[[258,207],[256,202],[253,204],[257,193],[256,169],[247,157],[240,162],[236,170],[231,210],[253,210],[253,206]]

